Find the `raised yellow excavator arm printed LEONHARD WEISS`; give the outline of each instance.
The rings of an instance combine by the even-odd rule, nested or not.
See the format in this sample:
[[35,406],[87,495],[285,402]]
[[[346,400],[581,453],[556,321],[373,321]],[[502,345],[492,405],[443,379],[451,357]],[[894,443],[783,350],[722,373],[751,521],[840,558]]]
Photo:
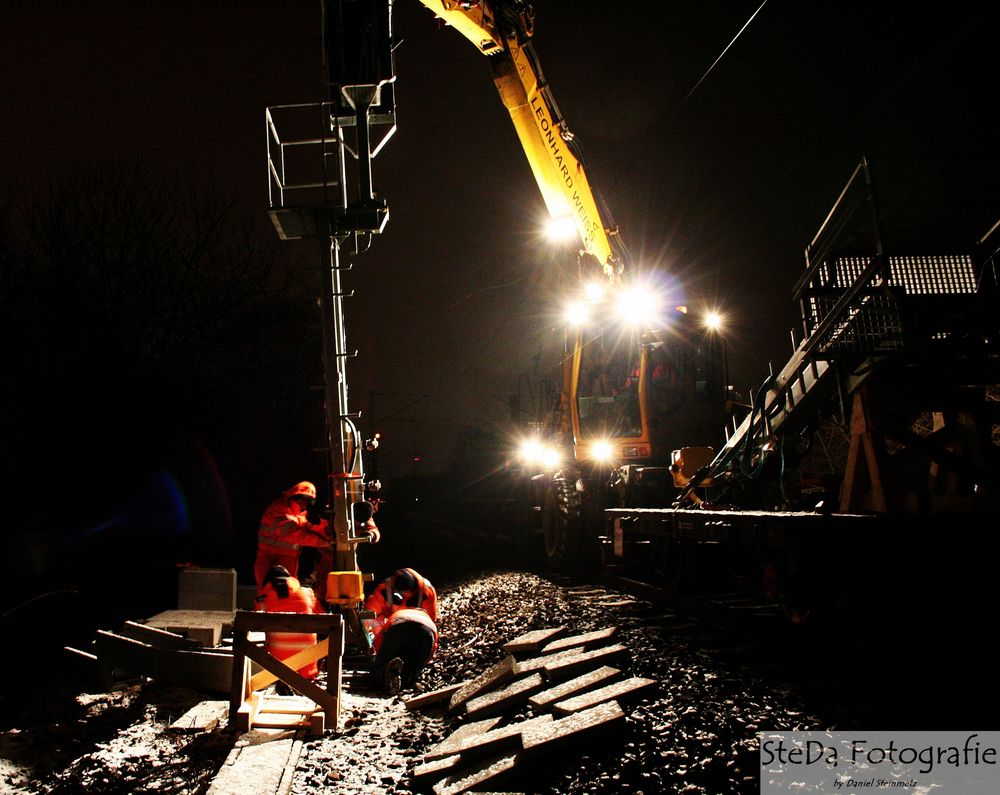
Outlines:
[[624,248],[617,229],[598,208],[573,135],[542,75],[531,43],[531,6],[519,0],[420,2],[489,56],[493,82],[510,112],[549,215],[572,219],[583,250],[615,281],[625,267]]

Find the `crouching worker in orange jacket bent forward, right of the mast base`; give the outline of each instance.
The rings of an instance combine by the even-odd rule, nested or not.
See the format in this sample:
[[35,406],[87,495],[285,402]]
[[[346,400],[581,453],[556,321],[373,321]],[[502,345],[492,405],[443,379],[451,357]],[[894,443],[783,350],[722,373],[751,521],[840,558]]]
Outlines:
[[372,679],[391,694],[411,687],[437,650],[437,591],[414,569],[399,569],[365,599],[375,660]]

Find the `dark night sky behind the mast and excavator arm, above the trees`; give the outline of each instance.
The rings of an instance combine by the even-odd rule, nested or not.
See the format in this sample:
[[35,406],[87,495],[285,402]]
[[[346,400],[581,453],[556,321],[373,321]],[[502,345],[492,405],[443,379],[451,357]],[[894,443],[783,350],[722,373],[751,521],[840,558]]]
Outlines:
[[[802,250],[862,155],[985,157],[992,206],[962,239],[997,215],[989,4],[770,0],[705,76],[758,6],[536,4],[592,183],[636,263],[726,313],[744,391],[787,358]],[[5,0],[0,14],[5,187],[139,157],[212,174],[268,224],[264,108],[321,98],[318,2]],[[346,285],[352,408],[375,392],[383,477],[413,452],[446,465],[455,429],[502,422],[560,339],[541,198],[485,59],[416,0],[397,0],[394,25],[398,132],[375,162],[390,219]]]

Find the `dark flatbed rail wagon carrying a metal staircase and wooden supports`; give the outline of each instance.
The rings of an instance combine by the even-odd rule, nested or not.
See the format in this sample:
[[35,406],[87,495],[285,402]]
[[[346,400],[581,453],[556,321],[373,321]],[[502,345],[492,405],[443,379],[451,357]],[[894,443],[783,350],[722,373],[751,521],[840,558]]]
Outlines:
[[675,453],[669,503],[607,511],[606,564],[742,574],[802,618],[847,574],[976,559],[1000,509],[997,225],[892,250],[874,185],[862,160],[805,249],[791,358],[718,452]]

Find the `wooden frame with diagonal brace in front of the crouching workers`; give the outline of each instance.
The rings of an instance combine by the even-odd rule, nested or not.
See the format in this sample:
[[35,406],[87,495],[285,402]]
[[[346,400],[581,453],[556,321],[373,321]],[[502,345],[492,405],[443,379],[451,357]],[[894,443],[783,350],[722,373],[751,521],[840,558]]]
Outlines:
[[[287,660],[279,660],[268,654],[261,646],[250,641],[250,632],[299,632],[326,635],[324,640]],[[324,728],[337,731],[340,722],[341,678],[344,654],[344,619],[339,613],[263,613],[252,610],[237,610],[233,621],[233,676],[229,699],[229,725],[239,731],[249,731],[253,726],[262,726],[271,721],[262,719],[261,713],[293,714],[301,716],[292,725],[309,727],[314,734],[322,734]],[[315,660],[326,657],[326,690],[311,679],[302,676],[296,669]],[[264,670],[250,676],[250,661]],[[255,691],[280,680],[308,699],[312,699],[322,711],[321,722],[314,715],[319,710],[308,711],[296,705],[282,708],[275,699],[263,699]],[[289,702],[291,704],[291,702]],[[287,719],[279,721],[289,725]]]

